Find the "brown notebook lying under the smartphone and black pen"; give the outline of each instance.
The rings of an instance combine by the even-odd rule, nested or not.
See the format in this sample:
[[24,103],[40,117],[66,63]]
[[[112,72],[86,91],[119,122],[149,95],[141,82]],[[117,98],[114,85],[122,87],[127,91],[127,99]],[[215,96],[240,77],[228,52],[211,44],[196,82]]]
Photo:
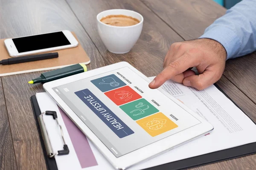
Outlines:
[[[73,32],[72,34],[76,37],[76,35]],[[11,58],[8,54],[8,51],[5,48],[4,40],[5,39],[0,40],[0,60]],[[76,40],[77,40],[77,37],[76,37]],[[22,73],[29,73],[34,71],[51,70],[51,69],[65,67],[67,65],[77,64],[77,63],[89,64],[90,63],[89,57],[87,56],[86,52],[82,48],[79,41],[78,43],[79,43],[78,46],[75,48],[67,48],[63,50],[50,51],[50,52],[58,52],[58,55],[59,55],[58,58],[44,59],[44,60],[33,61],[33,62],[23,62],[23,63],[12,64],[12,65],[0,65],[0,77],[12,75],[12,74],[22,74]]]

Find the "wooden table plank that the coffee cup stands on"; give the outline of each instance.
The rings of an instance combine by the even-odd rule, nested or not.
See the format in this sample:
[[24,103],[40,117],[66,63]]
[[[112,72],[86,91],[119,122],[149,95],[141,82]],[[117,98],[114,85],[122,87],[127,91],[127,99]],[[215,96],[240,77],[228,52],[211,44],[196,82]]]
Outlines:
[[[151,12],[140,0],[67,0],[73,12],[109,64],[126,61],[146,76],[154,76],[163,69],[163,59],[173,42],[182,39]],[[99,37],[96,15],[104,10],[125,8],[144,17],[140,39],[127,54],[113,54],[105,48]],[[146,68],[146,69],[145,69]]]

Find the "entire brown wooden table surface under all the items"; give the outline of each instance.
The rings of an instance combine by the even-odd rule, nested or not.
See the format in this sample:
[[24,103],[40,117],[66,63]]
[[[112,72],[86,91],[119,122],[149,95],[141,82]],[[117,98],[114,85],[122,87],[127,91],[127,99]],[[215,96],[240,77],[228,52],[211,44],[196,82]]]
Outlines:
[[[96,15],[112,8],[131,9],[144,17],[140,39],[128,54],[108,52],[97,33]],[[173,42],[199,37],[225,11],[212,0],[0,0],[0,38],[67,29],[76,33],[90,57],[89,70],[127,61],[149,77],[160,73]],[[227,61],[224,75],[217,82],[254,121],[255,65],[256,53]],[[29,100],[44,90],[41,84],[27,83],[40,74],[0,78],[1,170],[46,169]],[[256,155],[251,155],[193,169],[252,170],[255,166]]]

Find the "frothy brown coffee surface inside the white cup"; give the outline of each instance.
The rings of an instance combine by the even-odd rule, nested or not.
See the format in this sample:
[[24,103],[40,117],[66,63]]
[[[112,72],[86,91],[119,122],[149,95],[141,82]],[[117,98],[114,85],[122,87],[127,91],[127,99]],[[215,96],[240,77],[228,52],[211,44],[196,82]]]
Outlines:
[[108,15],[106,17],[102,17],[100,21],[110,26],[134,26],[140,23],[140,21],[134,17],[121,15],[121,14]]

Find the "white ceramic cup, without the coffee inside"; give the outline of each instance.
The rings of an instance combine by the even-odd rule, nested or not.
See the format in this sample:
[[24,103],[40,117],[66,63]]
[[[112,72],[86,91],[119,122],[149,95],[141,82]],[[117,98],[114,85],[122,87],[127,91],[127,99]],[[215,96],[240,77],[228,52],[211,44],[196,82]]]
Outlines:
[[[140,21],[134,26],[110,26],[102,23],[102,17],[108,15],[126,15]],[[111,9],[102,11],[97,15],[99,36],[108,48],[108,51],[116,54],[128,53],[140,37],[143,26],[143,16],[135,11],[127,9]]]

